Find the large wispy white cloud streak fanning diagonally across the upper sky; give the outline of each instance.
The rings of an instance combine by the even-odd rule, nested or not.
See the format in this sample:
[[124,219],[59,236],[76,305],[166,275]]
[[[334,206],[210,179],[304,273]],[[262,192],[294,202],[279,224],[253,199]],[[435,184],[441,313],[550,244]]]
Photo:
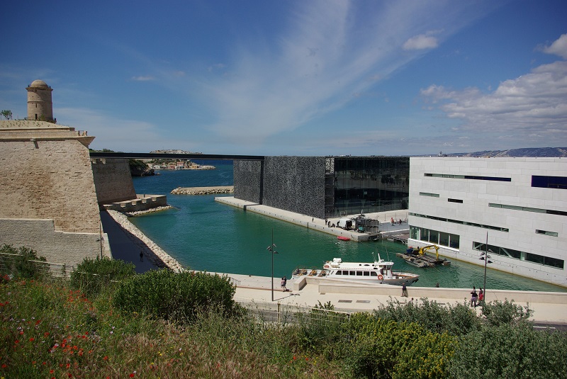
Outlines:
[[478,15],[466,4],[448,14],[428,1],[372,4],[371,11],[357,2],[298,4],[285,33],[236,45],[222,76],[186,86],[216,116],[209,128],[221,138],[260,143],[341,108],[422,49],[436,47],[439,31],[430,30],[454,32]]

